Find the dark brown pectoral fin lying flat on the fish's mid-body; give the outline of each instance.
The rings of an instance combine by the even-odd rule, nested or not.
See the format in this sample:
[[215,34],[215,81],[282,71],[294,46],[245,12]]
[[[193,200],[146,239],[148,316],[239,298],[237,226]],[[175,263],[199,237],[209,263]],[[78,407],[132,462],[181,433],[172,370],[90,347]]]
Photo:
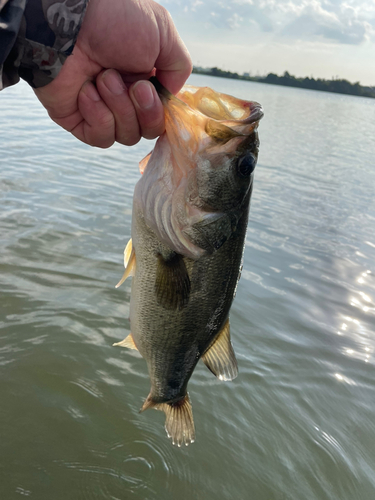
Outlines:
[[165,309],[182,309],[189,302],[190,278],[182,255],[158,256],[155,279],[157,301]]

